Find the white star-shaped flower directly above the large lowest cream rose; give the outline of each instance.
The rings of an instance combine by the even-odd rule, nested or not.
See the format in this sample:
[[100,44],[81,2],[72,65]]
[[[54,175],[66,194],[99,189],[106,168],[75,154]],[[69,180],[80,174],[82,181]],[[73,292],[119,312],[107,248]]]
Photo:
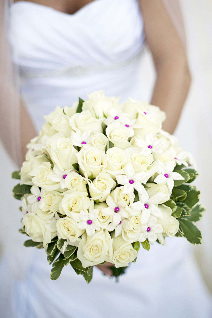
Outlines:
[[97,219],[99,209],[94,209],[94,201],[91,200],[89,212],[81,210],[79,218],[82,222],[78,223],[79,230],[86,230],[89,237],[95,234],[95,230],[100,231],[99,220]]

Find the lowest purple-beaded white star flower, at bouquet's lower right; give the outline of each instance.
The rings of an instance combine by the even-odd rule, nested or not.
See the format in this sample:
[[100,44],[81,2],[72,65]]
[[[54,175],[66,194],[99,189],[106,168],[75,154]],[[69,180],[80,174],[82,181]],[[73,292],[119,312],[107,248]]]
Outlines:
[[141,229],[142,233],[140,234],[138,241],[144,242],[146,239],[148,239],[150,244],[153,244],[156,241],[158,238],[157,234],[163,232],[162,225],[157,223],[157,218],[153,215],[150,215],[147,224],[142,225]]

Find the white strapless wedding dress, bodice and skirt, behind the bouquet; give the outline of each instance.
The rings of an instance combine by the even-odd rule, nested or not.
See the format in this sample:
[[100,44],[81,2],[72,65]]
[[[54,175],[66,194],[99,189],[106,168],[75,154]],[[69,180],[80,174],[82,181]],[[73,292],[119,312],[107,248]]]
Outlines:
[[[138,81],[144,34],[136,0],[95,0],[73,15],[20,1],[10,13],[13,58],[38,130],[44,114],[57,105],[71,106],[79,96],[86,99],[86,92],[105,89],[106,95],[121,100],[144,98]],[[6,180],[13,168],[6,154],[2,165]],[[20,202],[8,195],[12,182],[0,191],[3,318],[212,317],[211,299],[186,239],[167,238],[166,247],[155,243],[149,252],[141,247],[136,263],[118,283],[94,267],[87,285],[71,266],[51,281],[44,250],[25,248],[26,237],[16,232],[21,213]],[[5,211],[10,211],[9,219]],[[11,235],[6,235],[8,229]]]

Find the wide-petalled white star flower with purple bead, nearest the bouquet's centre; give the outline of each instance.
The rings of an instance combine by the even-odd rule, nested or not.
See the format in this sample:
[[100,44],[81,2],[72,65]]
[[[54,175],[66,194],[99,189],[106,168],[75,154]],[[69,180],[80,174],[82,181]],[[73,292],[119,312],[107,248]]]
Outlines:
[[124,168],[125,175],[115,175],[117,183],[123,184],[124,188],[122,190],[122,194],[128,194],[133,191],[133,188],[138,191],[138,193],[142,193],[142,185],[141,181],[149,176],[146,172],[140,171],[135,174],[132,163],[129,162]]

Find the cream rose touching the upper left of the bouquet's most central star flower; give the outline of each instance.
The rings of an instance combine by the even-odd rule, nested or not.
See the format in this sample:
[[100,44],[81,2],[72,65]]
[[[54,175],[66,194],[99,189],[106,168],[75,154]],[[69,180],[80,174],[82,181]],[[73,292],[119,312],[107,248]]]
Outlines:
[[109,173],[113,179],[115,175],[124,174],[124,167],[130,161],[130,154],[117,147],[110,148],[106,151],[107,166],[105,171]]

